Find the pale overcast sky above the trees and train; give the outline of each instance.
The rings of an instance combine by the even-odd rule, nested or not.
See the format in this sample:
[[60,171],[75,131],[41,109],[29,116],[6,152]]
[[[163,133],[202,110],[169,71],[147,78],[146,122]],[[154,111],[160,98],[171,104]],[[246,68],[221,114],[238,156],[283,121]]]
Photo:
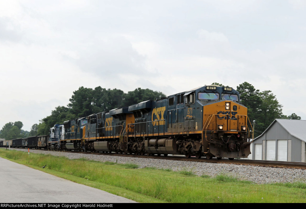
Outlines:
[[30,131],[80,86],[171,95],[247,81],[306,119],[305,11],[305,0],[0,0],[0,129]]

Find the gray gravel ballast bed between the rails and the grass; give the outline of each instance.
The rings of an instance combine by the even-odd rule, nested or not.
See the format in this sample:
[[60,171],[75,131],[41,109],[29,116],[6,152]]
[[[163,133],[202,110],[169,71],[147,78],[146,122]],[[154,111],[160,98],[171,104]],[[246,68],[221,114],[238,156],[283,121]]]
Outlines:
[[[28,151],[27,149],[18,149]],[[54,156],[65,156],[69,159],[86,158],[94,161],[110,161],[120,164],[133,163],[139,168],[155,167],[171,169],[173,171],[192,171],[196,175],[209,175],[214,177],[218,174],[225,174],[237,177],[241,180],[248,180],[255,183],[274,183],[274,182],[306,182],[306,170],[294,168],[270,168],[253,165],[236,165],[226,163],[207,163],[176,161],[152,158],[134,158],[99,154],[81,154],[44,150],[30,150],[31,153],[51,154]]]

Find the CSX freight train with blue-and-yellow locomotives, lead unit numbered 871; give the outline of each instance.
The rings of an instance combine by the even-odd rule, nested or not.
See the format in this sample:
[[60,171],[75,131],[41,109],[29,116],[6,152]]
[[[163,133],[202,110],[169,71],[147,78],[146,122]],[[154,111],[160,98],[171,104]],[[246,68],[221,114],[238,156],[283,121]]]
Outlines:
[[249,124],[239,93],[210,85],[56,124],[44,148],[232,160],[251,154]]

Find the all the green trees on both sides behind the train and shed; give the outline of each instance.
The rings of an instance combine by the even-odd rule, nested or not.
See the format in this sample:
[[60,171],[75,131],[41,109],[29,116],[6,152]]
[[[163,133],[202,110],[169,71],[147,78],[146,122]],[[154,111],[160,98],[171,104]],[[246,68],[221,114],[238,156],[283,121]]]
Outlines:
[[[212,83],[224,86],[220,83]],[[259,91],[255,87],[244,82],[237,86],[240,93],[241,103],[248,108],[250,122],[255,120],[255,137],[259,136],[274,119],[297,119],[301,117],[295,113],[291,115],[282,114],[282,105],[270,90]],[[120,89],[105,89],[102,87],[85,88],[80,87],[73,92],[67,106],[58,106],[51,111],[51,115],[40,120],[39,124],[34,124],[31,131],[22,130],[22,122],[6,123],[0,130],[0,138],[7,140],[24,138],[28,136],[48,135],[50,127],[61,124],[64,121],[85,117],[93,113],[110,111],[118,107],[127,107],[142,101],[155,100],[166,97],[159,91],[137,88],[134,91],[124,93]],[[253,124],[252,124],[253,125]]]

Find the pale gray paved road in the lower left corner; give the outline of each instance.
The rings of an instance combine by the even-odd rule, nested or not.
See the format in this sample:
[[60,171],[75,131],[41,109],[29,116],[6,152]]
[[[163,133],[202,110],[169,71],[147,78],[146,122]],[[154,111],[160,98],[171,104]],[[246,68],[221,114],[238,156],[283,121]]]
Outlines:
[[0,157],[1,203],[136,203]]

